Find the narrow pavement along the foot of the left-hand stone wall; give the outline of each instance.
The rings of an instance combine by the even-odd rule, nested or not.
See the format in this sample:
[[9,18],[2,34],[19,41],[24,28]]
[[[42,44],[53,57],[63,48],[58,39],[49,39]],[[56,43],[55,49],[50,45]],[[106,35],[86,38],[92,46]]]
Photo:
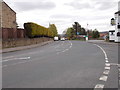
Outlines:
[[34,47],[38,47],[38,46],[44,46],[44,45],[50,44],[52,42],[53,41],[46,41],[46,42],[43,42],[43,43],[40,43],[40,44],[34,44],[34,45],[29,45],[29,46],[20,46],[20,47],[14,47],[14,48],[5,48],[5,49],[2,49],[2,51],[0,51],[0,52],[7,53],[7,52],[24,50],[24,49],[30,49],[30,48],[34,48]]

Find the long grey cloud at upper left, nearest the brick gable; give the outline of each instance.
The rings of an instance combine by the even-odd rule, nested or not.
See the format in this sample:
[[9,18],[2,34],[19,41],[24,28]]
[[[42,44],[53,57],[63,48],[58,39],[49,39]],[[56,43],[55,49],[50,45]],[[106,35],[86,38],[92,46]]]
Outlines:
[[14,5],[19,11],[31,11],[35,9],[50,10],[56,7],[55,3],[48,1],[14,2]]

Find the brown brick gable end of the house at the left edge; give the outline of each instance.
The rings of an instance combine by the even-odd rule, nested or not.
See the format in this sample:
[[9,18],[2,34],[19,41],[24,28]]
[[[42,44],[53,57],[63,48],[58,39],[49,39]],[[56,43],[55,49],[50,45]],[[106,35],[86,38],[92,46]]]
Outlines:
[[1,27],[2,28],[17,28],[16,12],[13,11],[4,1],[1,2]]

